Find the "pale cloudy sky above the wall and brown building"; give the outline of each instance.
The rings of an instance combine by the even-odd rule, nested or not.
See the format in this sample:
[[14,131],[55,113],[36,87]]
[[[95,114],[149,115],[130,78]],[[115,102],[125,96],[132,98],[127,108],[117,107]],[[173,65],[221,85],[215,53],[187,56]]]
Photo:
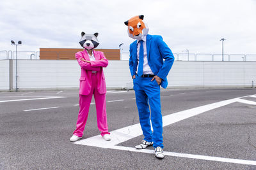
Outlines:
[[98,48],[129,51],[125,20],[144,15],[173,53],[256,53],[256,0],[1,0],[0,51],[81,48],[81,31],[99,32]]

